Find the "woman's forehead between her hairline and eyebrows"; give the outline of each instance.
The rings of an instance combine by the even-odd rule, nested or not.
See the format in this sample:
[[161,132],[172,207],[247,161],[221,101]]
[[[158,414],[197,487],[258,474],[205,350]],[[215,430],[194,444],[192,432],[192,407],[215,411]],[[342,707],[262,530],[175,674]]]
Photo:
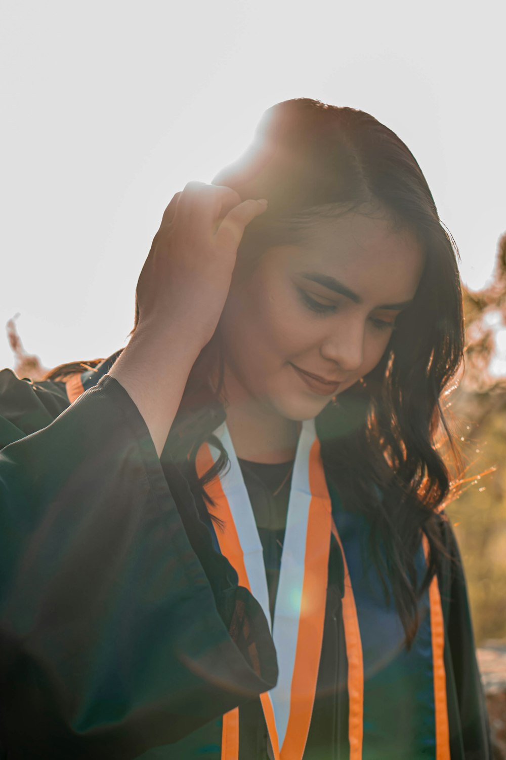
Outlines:
[[414,234],[379,214],[315,220],[300,243],[288,248],[283,257],[288,271],[335,277],[371,304],[412,299],[423,271]]

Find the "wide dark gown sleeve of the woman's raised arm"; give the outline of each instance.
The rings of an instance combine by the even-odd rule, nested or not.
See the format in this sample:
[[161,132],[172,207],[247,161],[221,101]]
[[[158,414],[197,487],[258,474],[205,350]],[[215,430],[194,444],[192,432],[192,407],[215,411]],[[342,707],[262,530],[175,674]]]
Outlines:
[[135,758],[271,689],[262,610],[124,388],[0,389],[5,756]]

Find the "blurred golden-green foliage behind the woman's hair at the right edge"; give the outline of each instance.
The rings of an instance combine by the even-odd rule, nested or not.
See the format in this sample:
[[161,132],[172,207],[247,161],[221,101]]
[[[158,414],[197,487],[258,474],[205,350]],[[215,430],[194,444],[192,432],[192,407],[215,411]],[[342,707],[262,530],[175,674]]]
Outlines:
[[464,459],[447,507],[467,573],[476,639],[506,638],[506,235],[485,289],[464,291],[464,373],[451,397]]

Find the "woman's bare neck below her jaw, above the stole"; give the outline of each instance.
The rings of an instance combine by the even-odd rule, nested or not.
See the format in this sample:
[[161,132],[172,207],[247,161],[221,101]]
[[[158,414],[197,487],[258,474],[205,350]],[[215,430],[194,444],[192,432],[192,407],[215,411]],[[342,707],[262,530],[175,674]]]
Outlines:
[[225,397],[227,427],[238,458],[266,464],[294,458],[300,423],[251,397],[226,366]]

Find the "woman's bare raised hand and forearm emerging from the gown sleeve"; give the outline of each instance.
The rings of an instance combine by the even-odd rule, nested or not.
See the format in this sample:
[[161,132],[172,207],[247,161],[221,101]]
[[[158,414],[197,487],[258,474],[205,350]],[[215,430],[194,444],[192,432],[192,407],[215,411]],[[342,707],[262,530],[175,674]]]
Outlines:
[[137,405],[159,455],[218,325],[244,228],[266,206],[190,182],[165,210],[137,283],[137,328],[108,372]]

